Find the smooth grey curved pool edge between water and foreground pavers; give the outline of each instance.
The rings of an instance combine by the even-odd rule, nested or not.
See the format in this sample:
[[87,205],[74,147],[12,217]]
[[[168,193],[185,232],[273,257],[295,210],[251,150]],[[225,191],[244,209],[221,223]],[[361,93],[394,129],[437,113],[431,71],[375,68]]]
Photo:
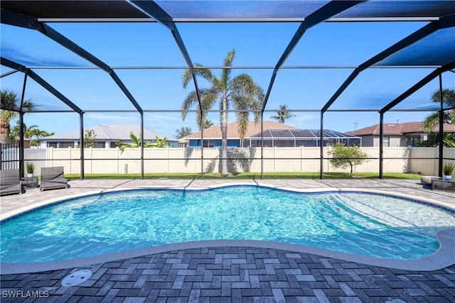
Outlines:
[[334,258],[353,263],[373,265],[383,268],[394,268],[398,270],[418,270],[431,271],[440,270],[455,264],[455,228],[446,229],[437,233],[440,248],[436,253],[416,260],[392,260],[374,258],[365,255],[354,255],[343,253],[326,248],[314,246],[301,246],[298,244],[281,243],[273,241],[257,240],[205,240],[191,241],[183,243],[166,244],[150,248],[140,248],[137,250],[127,250],[119,253],[107,255],[97,255],[94,257],[79,258],[73,260],[63,260],[43,263],[0,263],[0,274],[21,274],[31,272],[43,272],[48,270],[61,270],[67,268],[84,268],[90,265],[107,263],[128,258],[140,258],[145,255],[156,253],[166,253],[173,250],[185,250],[191,248],[217,248],[217,247],[251,247],[251,248],[272,248],[276,250],[288,250],[296,253],[310,253],[326,258]]

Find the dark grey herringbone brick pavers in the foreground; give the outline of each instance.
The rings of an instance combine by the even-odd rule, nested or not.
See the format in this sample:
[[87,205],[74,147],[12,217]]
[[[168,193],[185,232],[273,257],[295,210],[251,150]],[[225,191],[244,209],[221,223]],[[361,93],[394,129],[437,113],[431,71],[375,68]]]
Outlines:
[[269,248],[174,250],[88,269],[73,287],[61,281],[80,268],[1,275],[1,302],[455,302],[455,266],[392,270]]

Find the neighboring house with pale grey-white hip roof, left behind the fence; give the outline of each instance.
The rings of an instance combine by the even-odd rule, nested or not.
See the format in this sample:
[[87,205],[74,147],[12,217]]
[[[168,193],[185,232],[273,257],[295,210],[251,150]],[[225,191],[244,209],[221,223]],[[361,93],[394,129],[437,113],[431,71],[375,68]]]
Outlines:
[[[132,143],[129,132],[132,131],[137,138],[141,135],[141,126],[137,124],[108,124],[91,126],[84,129],[95,131],[95,145],[94,148],[115,148],[115,143]],[[162,133],[151,131],[149,128],[144,128],[144,141],[155,142],[156,137],[163,139],[166,137]],[[68,131],[68,133],[59,133],[57,135],[48,136],[39,139],[42,148],[76,148],[80,145],[80,131]],[[173,148],[178,147],[178,141],[173,138],[168,138],[167,145]]]

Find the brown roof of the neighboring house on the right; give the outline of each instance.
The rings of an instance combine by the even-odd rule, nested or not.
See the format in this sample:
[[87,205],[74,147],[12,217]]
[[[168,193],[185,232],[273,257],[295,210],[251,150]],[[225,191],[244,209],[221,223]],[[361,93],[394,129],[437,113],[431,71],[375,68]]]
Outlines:
[[[426,133],[422,129],[422,122],[405,122],[405,123],[384,123],[384,134],[385,135],[405,135],[407,133]],[[439,131],[439,124],[434,126],[434,132]],[[444,132],[452,133],[455,132],[455,125],[444,123]],[[360,128],[355,131],[348,131],[350,135],[354,136],[368,136],[368,135],[378,135],[379,136],[379,124],[368,126],[365,128]]]

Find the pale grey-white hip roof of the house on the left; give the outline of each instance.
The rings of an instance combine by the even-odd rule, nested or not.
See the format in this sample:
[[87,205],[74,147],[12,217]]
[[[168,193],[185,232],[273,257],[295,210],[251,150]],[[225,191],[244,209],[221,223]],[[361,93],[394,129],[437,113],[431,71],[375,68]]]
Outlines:
[[[141,126],[139,124],[107,124],[107,125],[96,125],[84,128],[84,132],[87,130],[93,130],[96,134],[96,141],[110,140],[110,141],[131,141],[129,132],[132,131],[134,136],[139,138],[141,133]],[[158,138],[162,139],[166,137],[163,133],[152,131],[149,128],[144,127],[144,140],[154,140]],[[57,135],[48,136],[40,139],[41,141],[50,140],[80,140],[79,130],[68,131],[67,133],[58,133]],[[173,138],[168,138],[169,141],[175,141]]]

